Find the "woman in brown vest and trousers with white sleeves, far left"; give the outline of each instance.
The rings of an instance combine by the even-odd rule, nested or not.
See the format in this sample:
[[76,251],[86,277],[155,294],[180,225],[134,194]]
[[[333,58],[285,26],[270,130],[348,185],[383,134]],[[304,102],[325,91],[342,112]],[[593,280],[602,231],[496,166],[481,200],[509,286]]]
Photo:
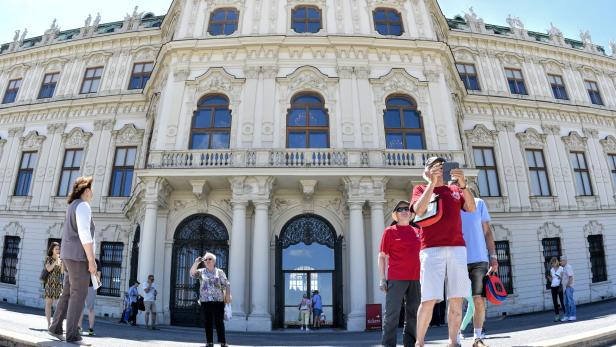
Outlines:
[[[62,233],[60,258],[65,269],[62,295],[53,317],[49,334],[78,345],[88,345],[79,334],[79,320],[88,295],[91,274],[96,274],[96,238],[90,202],[92,177],[77,177],[68,197],[68,209]],[[62,325],[66,319],[66,338]]]

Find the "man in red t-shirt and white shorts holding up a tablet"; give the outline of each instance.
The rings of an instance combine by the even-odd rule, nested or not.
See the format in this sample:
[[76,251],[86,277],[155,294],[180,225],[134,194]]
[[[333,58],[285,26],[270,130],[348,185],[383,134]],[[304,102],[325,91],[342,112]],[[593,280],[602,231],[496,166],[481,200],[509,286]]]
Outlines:
[[417,343],[424,345],[424,337],[432,318],[434,304],[443,300],[443,285],[449,302],[449,346],[457,346],[456,336],[462,319],[462,300],[470,293],[466,267],[466,246],[462,236],[460,210],[475,211],[475,199],[466,189],[466,179],[461,169],[451,170],[456,185],[443,182],[445,159],[431,157],[426,161],[424,178],[427,185],[413,188],[412,207],[418,216],[426,213],[435,196],[442,201],[442,217],[421,230],[421,305],[417,312]]

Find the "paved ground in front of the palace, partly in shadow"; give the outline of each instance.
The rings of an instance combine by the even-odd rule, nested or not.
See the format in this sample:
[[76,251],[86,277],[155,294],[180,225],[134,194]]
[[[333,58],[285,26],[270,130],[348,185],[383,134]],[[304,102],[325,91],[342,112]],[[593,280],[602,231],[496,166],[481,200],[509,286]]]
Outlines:
[[[614,329],[616,337],[616,300],[588,304],[578,307],[578,321],[553,323],[551,312],[509,316],[504,319],[488,319],[486,329],[487,343],[499,346],[541,346],[542,341],[556,337],[570,341],[583,333],[592,333],[607,327]],[[84,324],[87,325],[87,319]],[[52,341],[46,334],[46,321],[43,310],[0,303],[0,336],[30,341],[39,346],[70,346]],[[470,331],[470,328],[469,328]],[[201,329],[163,326],[159,331],[143,327],[117,324],[115,321],[97,321],[98,336],[85,336],[84,340],[93,346],[204,346],[205,335]],[[429,346],[446,345],[446,327],[430,328]],[[6,338],[4,339],[6,341]],[[3,345],[0,339],[0,345]],[[374,346],[380,341],[380,332],[347,332],[341,330],[321,330],[300,332],[280,330],[271,333],[228,333],[231,346]],[[401,343],[402,338],[398,341]],[[616,341],[614,342],[616,344]],[[463,341],[462,346],[470,347],[471,339]],[[551,344],[556,346],[558,344]],[[569,344],[570,346],[583,344]],[[601,346],[612,346],[603,343]],[[560,345],[559,345],[560,346]]]

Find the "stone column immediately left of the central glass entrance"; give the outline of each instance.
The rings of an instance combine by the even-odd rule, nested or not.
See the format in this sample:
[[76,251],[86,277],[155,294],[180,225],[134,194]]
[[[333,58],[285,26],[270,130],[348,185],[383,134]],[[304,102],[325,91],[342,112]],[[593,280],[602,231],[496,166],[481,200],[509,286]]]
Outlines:
[[255,226],[252,238],[251,313],[249,331],[270,331],[269,313],[269,200],[253,201]]

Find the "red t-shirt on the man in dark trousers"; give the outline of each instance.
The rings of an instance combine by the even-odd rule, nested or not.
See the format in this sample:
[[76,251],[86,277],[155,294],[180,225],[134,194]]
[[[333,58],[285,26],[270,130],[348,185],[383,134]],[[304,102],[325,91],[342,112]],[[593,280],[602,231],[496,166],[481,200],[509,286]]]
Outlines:
[[388,280],[419,281],[417,232],[410,225],[392,225],[383,232],[380,251],[389,256]]

